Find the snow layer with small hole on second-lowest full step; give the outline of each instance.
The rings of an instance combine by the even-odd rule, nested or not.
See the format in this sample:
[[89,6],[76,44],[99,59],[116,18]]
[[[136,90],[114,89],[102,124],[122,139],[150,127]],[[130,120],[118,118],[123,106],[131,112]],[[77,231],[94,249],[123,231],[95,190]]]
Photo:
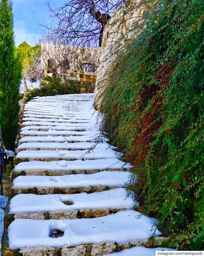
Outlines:
[[[70,201],[72,205],[63,202]],[[80,209],[131,208],[134,200],[126,198],[125,188],[80,194],[18,194],[10,201],[10,214],[24,212],[71,211]]]

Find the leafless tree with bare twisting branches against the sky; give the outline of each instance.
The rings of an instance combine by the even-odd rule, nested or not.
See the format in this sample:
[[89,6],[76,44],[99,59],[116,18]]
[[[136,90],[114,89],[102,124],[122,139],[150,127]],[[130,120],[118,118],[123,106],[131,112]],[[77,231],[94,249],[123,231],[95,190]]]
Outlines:
[[123,0],[69,0],[61,7],[52,8],[51,16],[57,24],[50,30],[63,41],[74,46],[101,46],[104,26]]

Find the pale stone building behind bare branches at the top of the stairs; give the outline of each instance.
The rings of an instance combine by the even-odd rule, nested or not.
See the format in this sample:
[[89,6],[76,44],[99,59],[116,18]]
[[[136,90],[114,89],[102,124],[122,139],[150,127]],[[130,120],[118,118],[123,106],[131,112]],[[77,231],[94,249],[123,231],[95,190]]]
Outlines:
[[[97,48],[41,44],[41,74],[53,73],[81,82],[82,87],[93,90],[100,51]],[[85,90],[85,89],[84,89]]]

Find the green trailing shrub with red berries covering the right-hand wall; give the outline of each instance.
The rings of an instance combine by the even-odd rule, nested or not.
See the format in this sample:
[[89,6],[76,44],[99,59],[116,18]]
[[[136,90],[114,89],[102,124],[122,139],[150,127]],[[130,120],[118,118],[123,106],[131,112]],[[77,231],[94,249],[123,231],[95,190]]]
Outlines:
[[106,77],[103,127],[134,166],[145,213],[180,250],[204,250],[204,3],[149,3]]

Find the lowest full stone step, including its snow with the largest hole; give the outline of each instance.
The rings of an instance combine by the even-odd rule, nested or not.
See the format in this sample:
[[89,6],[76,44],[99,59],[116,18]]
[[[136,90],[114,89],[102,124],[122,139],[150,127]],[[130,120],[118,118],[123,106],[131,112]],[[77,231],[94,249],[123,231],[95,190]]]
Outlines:
[[124,210],[90,219],[15,219],[8,227],[9,232],[4,230],[3,253],[102,256],[132,246],[152,247],[167,241],[167,238],[158,236],[161,234],[158,230],[155,230],[157,236],[150,238],[153,219],[147,216],[136,219],[138,214],[133,210]]

